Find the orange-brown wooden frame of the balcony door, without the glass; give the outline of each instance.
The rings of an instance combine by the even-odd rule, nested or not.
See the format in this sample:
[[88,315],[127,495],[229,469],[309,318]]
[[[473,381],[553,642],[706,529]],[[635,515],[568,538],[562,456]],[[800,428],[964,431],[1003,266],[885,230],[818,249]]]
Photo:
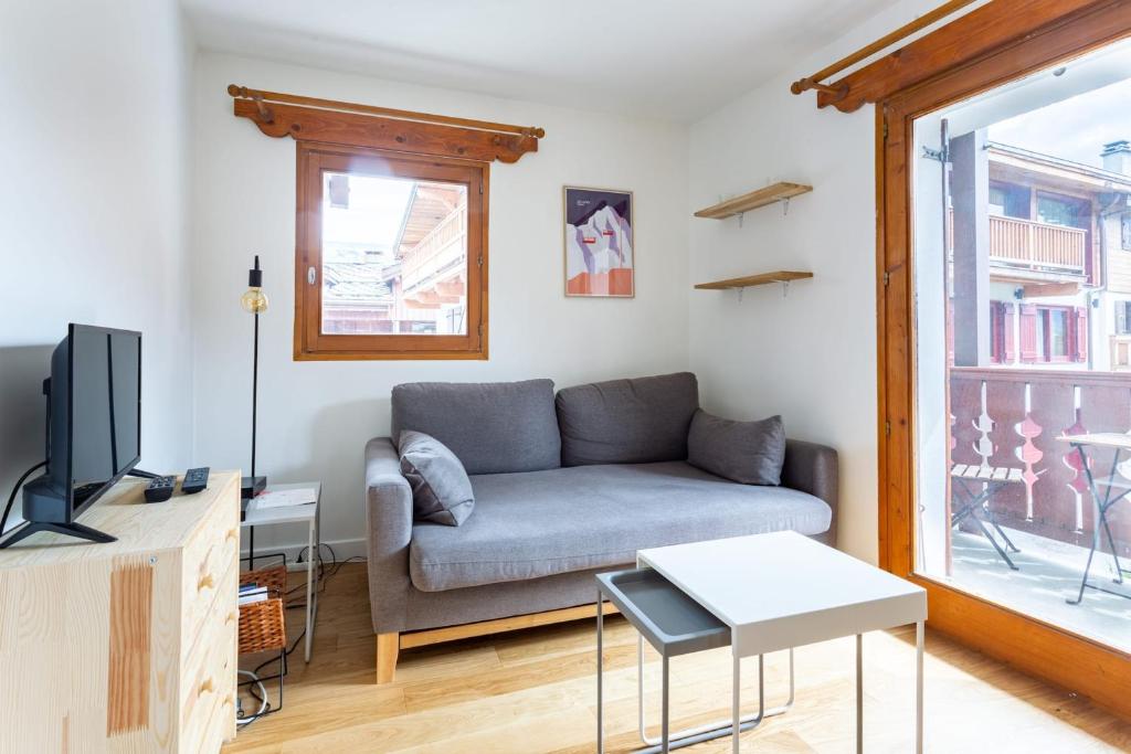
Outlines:
[[[1025,18],[1016,21],[1024,25]],[[914,573],[915,319],[909,154],[915,118],[1131,37],[1131,2],[1097,3],[976,63],[877,103],[880,564],[927,589],[930,625],[1131,718],[1131,655]]]

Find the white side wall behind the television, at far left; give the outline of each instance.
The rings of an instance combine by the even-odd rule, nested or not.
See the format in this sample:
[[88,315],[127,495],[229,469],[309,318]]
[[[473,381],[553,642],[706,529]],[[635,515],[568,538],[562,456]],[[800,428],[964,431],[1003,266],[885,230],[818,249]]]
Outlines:
[[5,497],[42,460],[70,321],[143,331],[141,462],[188,462],[190,49],[174,0],[0,3]]

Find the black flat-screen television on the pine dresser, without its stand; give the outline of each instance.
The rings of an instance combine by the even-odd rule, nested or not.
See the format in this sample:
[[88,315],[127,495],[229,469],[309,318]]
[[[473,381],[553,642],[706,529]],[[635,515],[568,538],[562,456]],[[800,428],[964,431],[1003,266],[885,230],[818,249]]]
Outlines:
[[67,488],[74,517],[139,460],[141,335],[72,324],[68,340]]

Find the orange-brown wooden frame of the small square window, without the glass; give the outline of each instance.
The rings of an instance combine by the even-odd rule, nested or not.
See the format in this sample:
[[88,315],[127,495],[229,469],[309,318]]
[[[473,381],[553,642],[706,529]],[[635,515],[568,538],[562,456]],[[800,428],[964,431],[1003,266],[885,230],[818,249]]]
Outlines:
[[[490,164],[388,149],[299,141],[295,180],[295,361],[486,359]],[[466,335],[322,332],[321,206],[325,171],[397,175],[467,187]],[[314,281],[308,270],[317,270]]]

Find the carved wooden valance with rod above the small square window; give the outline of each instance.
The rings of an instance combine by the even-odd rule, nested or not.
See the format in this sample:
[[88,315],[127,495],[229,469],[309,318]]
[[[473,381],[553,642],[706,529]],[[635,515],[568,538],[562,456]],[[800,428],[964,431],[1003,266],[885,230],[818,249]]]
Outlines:
[[433,115],[349,102],[261,92],[232,84],[235,115],[247,118],[267,136],[291,136],[372,149],[515,163],[538,150],[541,128],[508,125],[466,118]]

